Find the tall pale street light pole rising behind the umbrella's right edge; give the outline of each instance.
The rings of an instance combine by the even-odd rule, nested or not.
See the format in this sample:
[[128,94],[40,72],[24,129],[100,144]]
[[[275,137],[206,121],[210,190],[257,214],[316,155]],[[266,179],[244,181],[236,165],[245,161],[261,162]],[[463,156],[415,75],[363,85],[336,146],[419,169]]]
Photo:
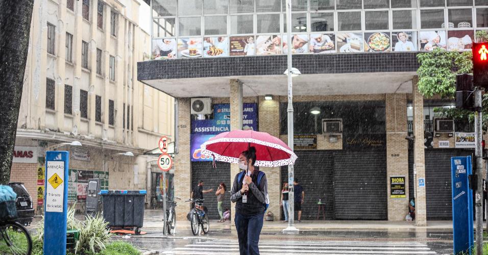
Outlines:
[[[288,147],[290,147],[291,151],[293,151],[293,93],[292,93],[292,83],[291,77],[300,75],[300,71],[297,68],[291,67],[291,0],[286,0],[286,41],[287,41],[287,62],[288,67],[284,74],[288,77],[288,109],[286,112],[288,113]],[[294,169],[293,165],[288,165],[288,227],[283,230],[285,234],[297,234],[298,228],[294,226],[294,217],[295,217],[295,195],[294,195],[294,187],[293,187],[293,180],[294,177]],[[291,201],[291,202],[290,202]]]

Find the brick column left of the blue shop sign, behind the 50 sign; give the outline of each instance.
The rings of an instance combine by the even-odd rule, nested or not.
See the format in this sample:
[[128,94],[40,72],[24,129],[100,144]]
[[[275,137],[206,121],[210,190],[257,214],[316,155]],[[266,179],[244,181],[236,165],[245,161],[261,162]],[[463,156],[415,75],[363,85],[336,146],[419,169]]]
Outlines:
[[[178,141],[179,152],[175,156],[175,196],[185,200],[191,193],[191,164],[190,164],[190,98],[180,98],[178,111]],[[188,203],[182,202],[181,208],[176,210],[177,220],[186,221],[189,211]]]

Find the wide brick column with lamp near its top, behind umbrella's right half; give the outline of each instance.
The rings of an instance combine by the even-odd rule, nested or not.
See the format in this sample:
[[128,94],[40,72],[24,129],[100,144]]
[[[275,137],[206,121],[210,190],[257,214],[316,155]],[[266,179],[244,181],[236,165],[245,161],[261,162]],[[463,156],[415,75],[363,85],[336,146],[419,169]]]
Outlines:
[[[266,132],[272,136],[280,137],[280,101],[279,96],[274,96],[273,100],[265,100],[259,97],[259,131]],[[261,171],[266,173],[267,192],[270,195],[269,212],[273,212],[275,220],[281,220],[281,167],[261,167]]]

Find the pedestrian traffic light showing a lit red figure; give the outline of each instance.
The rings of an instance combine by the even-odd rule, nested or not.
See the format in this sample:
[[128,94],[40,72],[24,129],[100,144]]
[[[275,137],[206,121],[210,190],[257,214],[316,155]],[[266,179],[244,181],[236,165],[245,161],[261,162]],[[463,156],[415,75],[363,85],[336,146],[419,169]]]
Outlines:
[[488,91],[488,42],[473,43],[473,84]]

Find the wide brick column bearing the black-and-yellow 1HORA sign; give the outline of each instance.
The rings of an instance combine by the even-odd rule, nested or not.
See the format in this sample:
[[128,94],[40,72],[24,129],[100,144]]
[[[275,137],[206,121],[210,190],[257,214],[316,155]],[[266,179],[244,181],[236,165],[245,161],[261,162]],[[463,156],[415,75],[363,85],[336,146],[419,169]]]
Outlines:
[[[386,94],[386,194],[388,196],[388,220],[401,221],[408,213],[408,141],[407,95]],[[423,128],[423,127],[422,127]],[[405,198],[390,196],[390,177],[402,176],[405,182]]]

